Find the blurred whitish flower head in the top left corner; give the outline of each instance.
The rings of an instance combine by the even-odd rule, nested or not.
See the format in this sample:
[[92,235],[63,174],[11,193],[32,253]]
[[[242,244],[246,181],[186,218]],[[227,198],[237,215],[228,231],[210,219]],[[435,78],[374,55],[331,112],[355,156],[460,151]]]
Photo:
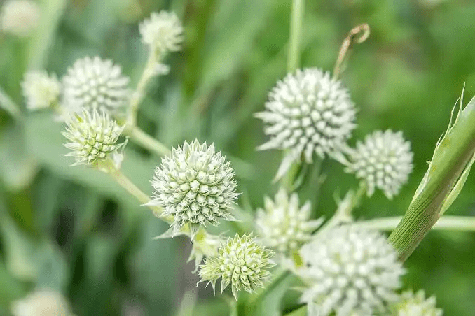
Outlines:
[[34,1],[7,0],[1,8],[0,31],[27,37],[38,25],[40,8]]

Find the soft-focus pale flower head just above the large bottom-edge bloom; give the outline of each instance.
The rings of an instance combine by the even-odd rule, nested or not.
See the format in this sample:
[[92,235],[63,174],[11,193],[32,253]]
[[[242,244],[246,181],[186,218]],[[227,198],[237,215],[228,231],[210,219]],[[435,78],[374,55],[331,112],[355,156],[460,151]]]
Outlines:
[[263,245],[282,254],[291,254],[308,242],[322,220],[310,220],[310,201],[300,208],[298,195],[289,196],[280,188],[275,199],[264,198],[264,209],[257,210],[256,224]]

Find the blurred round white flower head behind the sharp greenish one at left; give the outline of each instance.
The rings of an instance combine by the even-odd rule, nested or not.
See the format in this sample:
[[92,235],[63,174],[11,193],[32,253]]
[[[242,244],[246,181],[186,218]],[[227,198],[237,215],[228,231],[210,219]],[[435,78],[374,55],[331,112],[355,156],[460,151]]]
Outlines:
[[70,112],[85,108],[121,115],[129,99],[129,81],[122,75],[121,67],[113,65],[111,60],[78,59],[62,79],[63,106]]

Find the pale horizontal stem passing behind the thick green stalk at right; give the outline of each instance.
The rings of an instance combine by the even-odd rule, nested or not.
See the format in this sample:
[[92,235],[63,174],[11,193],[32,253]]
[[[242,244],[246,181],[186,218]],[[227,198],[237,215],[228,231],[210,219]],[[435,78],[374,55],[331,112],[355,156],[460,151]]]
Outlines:
[[[401,222],[402,216],[376,218],[355,222],[354,225],[367,229],[377,229],[380,231],[392,231]],[[475,231],[475,217],[471,216],[443,216],[434,224],[432,229],[451,231]]]

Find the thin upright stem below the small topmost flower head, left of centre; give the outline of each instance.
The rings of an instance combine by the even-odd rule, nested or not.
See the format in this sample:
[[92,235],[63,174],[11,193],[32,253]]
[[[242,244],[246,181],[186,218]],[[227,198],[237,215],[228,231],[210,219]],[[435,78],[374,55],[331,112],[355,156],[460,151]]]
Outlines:
[[146,86],[150,79],[154,76],[154,67],[157,63],[157,53],[154,48],[150,48],[149,59],[146,62],[144,72],[137,83],[137,88],[130,98],[129,113],[127,117],[127,124],[135,127],[137,125],[137,112],[139,110],[139,104],[144,99]]

